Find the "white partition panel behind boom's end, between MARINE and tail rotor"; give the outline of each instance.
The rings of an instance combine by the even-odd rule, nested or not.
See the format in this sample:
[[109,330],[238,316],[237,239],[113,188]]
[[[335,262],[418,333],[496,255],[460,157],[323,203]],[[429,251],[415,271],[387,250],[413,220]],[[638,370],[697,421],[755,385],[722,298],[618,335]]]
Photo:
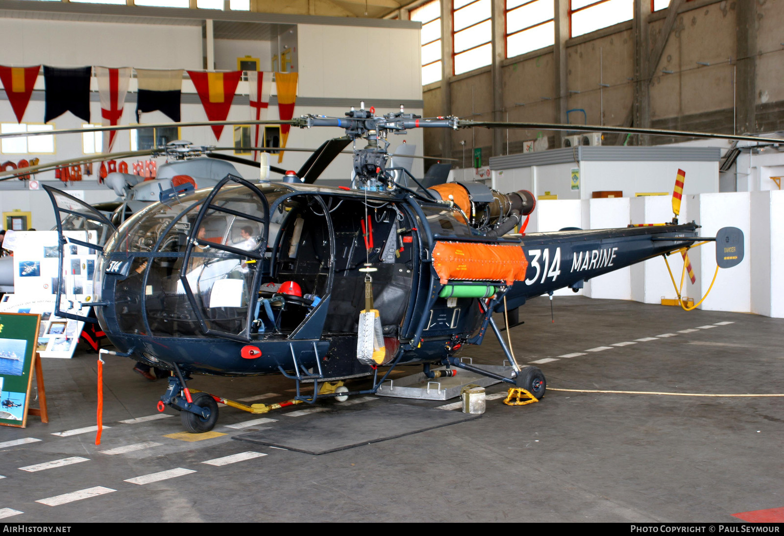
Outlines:
[[[670,195],[631,197],[630,198],[631,223],[669,223],[673,219],[672,197]],[[678,219],[687,223],[688,213],[686,203],[681,204],[681,215]],[[667,259],[673,276],[680,281],[683,271],[681,255],[670,255]],[[670,273],[661,257],[648,259],[644,263],[630,266],[631,270],[631,299],[636,302],[661,303],[662,298],[675,299],[677,294],[673,288]],[[687,275],[688,277],[688,275]],[[691,294],[686,293],[688,297]]]

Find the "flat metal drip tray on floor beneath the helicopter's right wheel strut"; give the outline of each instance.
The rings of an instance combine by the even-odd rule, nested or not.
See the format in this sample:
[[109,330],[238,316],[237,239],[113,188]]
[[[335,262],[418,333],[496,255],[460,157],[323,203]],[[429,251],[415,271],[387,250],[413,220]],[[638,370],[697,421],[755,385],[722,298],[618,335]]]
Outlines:
[[[469,358],[464,358],[469,360]],[[474,364],[474,367],[481,368],[485,371],[494,374],[506,376],[509,378],[511,371],[510,366],[501,365],[485,365]],[[446,370],[445,367],[437,368],[438,371]],[[423,372],[405,378],[396,378],[394,380],[387,380],[383,382],[376,391],[379,397],[397,397],[397,398],[419,398],[422,400],[449,400],[460,396],[463,387],[474,385],[480,387],[492,386],[495,383],[500,383],[500,380],[495,378],[488,378],[474,374],[473,372],[463,371],[459,368],[454,368],[457,375],[452,378],[427,378]]]

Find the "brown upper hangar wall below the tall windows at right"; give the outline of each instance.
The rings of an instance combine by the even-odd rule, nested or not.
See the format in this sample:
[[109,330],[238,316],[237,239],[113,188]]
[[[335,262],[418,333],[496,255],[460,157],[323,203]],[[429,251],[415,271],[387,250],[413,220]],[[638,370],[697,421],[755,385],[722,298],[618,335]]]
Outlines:
[[[648,81],[649,97],[644,103],[649,109],[648,125],[635,121],[634,126],[724,133],[784,129],[784,85],[780,83],[784,76],[780,32],[784,2],[682,2],[671,33],[662,36],[666,12],[662,9],[644,17],[648,51],[662,39],[666,45],[659,63],[651,66],[655,74]],[[442,16],[451,14],[443,12]],[[752,21],[746,24],[749,16]],[[628,21],[567,39],[563,90],[556,85],[554,46],[549,46],[499,60],[495,68],[500,70],[500,85],[492,81],[494,66],[426,85],[425,114],[454,114],[477,121],[631,124],[638,77],[635,23]],[[450,63],[448,57],[445,63]],[[560,100],[565,100],[564,107]],[[498,102],[503,103],[500,108],[494,105]],[[469,151],[480,147],[486,165],[493,155],[521,153],[524,141],[540,136],[549,136],[550,148],[560,147],[548,131],[510,130],[508,142],[507,132],[503,132],[493,143],[492,132],[472,130],[451,132],[446,137],[428,132],[426,150],[459,158],[462,141]],[[618,138],[607,135],[603,143],[615,144]],[[655,144],[673,141],[665,136],[648,139]],[[631,138],[628,143],[637,140]]]

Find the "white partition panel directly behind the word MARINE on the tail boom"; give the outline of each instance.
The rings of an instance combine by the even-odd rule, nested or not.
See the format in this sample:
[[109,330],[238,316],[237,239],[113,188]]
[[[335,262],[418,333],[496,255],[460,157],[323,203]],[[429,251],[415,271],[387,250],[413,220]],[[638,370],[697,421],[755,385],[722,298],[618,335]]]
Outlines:
[[[583,203],[583,229],[608,229],[629,224],[629,197],[586,199]],[[627,266],[586,281],[583,294],[589,298],[631,299],[631,271]]]

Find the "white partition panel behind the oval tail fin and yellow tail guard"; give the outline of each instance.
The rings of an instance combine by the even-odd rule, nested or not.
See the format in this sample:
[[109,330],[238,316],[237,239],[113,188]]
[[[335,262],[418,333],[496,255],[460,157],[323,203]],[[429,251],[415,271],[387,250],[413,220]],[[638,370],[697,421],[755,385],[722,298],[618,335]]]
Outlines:
[[[738,227],[744,235],[745,259],[738,266],[719,270],[710,295],[700,307],[713,311],[750,311],[751,265],[755,252],[750,248],[749,192],[690,195],[684,196],[684,199],[687,201],[690,218],[695,219],[702,226],[699,230],[700,236],[715,237],[720,228],[727,226]],[[688,288],[688,292],[684,291],[684,294],[701,297],[705,295],[713,280],[713,273],[716,270],[716,249],[711,244],[706,244],[696,252],[691,252],[689,258],[694,267],[697,284],[693,287],[690,281],[684,284],[684,288]],[[678,278],[676,279],[679,281]]]

